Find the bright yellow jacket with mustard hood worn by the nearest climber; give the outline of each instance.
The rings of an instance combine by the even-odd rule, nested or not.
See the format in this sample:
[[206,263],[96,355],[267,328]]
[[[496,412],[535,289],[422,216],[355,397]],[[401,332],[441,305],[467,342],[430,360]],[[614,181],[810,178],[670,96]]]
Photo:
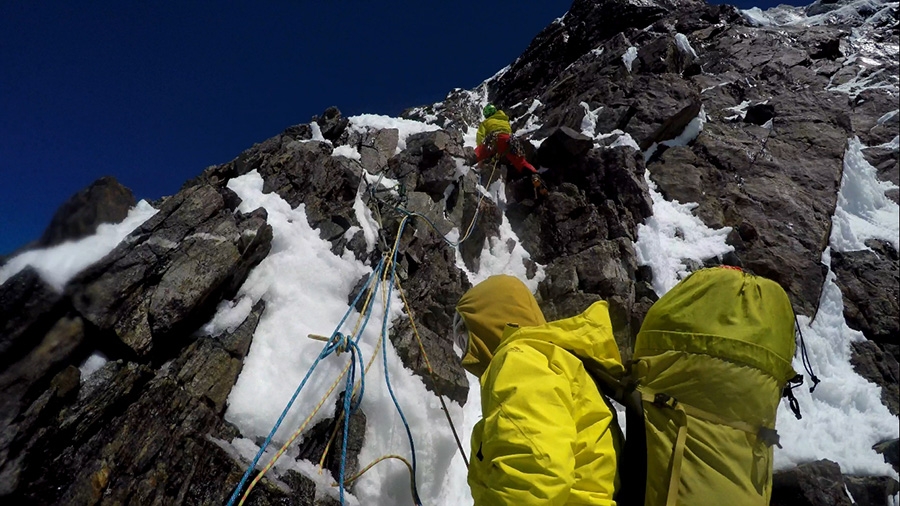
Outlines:
[[606,302],[547,323],[521,281],[492,276],[457,311],[469,331],[463,367],[481,378],[475,506],[614,506],[621,432],[579,359],[623,369]]

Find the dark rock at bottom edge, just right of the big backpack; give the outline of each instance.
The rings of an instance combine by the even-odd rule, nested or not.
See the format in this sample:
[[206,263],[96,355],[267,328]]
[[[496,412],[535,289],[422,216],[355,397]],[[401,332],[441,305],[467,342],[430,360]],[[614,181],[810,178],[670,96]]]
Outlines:
[[772,477],[771,506],[852,506],[841,467],[830,460],[801,464]]

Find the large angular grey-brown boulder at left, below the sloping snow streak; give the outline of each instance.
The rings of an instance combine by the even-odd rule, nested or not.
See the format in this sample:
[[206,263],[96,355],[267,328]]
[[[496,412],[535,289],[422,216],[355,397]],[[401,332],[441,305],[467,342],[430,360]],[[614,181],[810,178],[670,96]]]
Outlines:
[[174,346],[209,319],[259,263],[272,240],[266,213],[244,215],[211,186],[182,191],[103,260],[73,279],[76,310],[137,355]]

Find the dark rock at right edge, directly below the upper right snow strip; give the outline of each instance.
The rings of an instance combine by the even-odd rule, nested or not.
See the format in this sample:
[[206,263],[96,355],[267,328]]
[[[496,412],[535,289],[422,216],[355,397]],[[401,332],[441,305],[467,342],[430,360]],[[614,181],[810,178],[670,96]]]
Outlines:
[[[831,253],[831,269],[844,298],[850,328],[866,338],[897,342],[900,336],[900,264],[889,244],[870,241],[872,251]],[[895,377],[896,379],[896,377]]]

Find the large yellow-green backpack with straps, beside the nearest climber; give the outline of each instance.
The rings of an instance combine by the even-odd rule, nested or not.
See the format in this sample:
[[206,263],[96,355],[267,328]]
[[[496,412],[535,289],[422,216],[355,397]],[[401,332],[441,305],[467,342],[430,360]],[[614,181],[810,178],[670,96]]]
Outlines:
[[783,395],[799,418],[794,324],[774,281],[703,269],[650,308],[626,376],[586,364],[626,408],[618,504],[769,504]]

